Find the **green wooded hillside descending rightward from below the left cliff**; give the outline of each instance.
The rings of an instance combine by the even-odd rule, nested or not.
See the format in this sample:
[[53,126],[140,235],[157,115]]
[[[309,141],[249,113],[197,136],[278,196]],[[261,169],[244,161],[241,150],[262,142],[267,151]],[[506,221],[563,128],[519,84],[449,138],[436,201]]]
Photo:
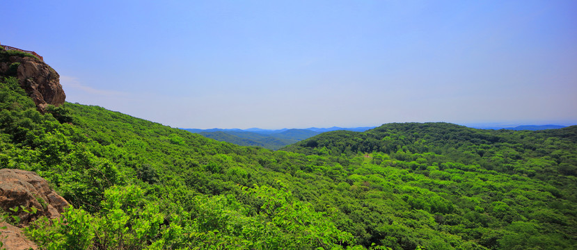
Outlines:
[[315,249],[354,242],[262,168],[271,161],[268,150],[95,106],[65,103],[41,115],[16,78],[0,83],[0,168],[37,172],[74,205],[66,222],[40,219],[26,230],[41,248]]

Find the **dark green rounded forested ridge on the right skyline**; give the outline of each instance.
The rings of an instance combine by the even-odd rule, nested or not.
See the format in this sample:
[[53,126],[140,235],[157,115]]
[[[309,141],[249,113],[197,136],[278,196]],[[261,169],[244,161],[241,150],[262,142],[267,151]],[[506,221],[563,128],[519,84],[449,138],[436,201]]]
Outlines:
[[[527,144],[533,151],[537,144],[549,137],[575,142],[577,126],[542,131],[484,130],[457,124],[391,123],[365,132],[331,131],[288,146],[306,152],[316,147],[328,147],[333,154],[357,151],[394,153],[397,147],[409,147],[418,153],[438,151],[444,147],[460,147],[463,144],[492,145],[497,143]],[[403,149],[404,150],[404,149]],[[540,151],[542,152],[542,151]],[[481,155],[482,156],[482,155]]]

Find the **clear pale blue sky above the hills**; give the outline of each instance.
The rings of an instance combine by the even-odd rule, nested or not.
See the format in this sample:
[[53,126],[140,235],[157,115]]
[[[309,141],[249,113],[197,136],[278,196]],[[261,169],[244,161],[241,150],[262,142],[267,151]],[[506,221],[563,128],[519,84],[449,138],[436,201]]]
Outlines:
[[4,1],[66,101],[181,128],[577,124],[577,1]]

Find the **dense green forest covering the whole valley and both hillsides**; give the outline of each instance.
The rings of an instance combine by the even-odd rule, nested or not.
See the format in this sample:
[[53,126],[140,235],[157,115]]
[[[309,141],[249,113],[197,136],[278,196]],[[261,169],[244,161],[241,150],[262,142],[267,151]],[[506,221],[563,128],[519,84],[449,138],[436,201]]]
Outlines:
[[577,249],[576,140],[410,123],[271,151],[97,106],[42,115],[0,85],[0,168],[73,205],[26,228],[42,249]]

